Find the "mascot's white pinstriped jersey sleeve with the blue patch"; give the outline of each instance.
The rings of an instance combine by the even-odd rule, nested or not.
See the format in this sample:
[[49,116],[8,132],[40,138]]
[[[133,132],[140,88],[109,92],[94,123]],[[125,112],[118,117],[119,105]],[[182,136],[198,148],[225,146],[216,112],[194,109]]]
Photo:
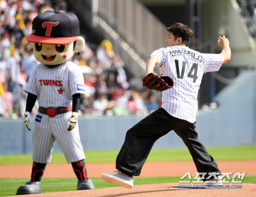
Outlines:
[[71,70],[69,88],[71,90],[71,95],[77,93],[80,93],[82,97],[85,95],[83,72],[78,65],[74,66]]

